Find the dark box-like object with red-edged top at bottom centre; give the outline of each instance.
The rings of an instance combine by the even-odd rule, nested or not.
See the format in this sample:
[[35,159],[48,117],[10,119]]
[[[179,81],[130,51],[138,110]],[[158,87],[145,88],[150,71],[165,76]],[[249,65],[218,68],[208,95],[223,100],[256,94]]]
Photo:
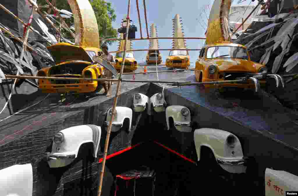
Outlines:
[[154,170],[143,167],[117,175],[115,196],[153,196],[155,174]]

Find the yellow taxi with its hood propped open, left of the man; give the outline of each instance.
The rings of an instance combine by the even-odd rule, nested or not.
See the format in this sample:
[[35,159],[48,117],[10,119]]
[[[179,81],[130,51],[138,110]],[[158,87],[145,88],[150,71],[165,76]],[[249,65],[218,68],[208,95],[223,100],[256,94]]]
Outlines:
[[[69,43],[57,43],[47,48],[56,65],[42,68],[37,76],[99,79],[103,75],[103,66],[92,64],[94,55],[103,54],[100,48],[80,47]],[[99,92],[103,84],[87,80],[38,79],[38,86],[44,93],[93,93]]]

